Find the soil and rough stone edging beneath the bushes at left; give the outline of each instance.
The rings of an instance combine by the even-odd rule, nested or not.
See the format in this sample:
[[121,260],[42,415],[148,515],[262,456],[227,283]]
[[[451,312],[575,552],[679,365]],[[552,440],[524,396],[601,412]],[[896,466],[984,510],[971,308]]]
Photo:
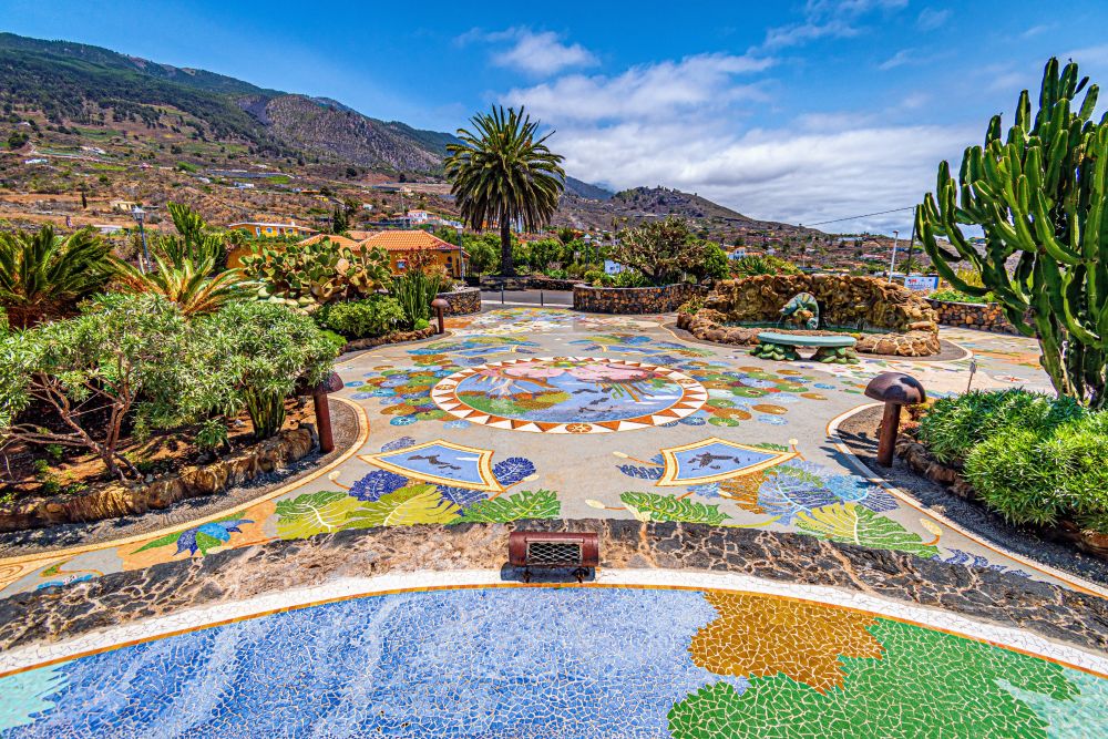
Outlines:
[[[37,465],[30,452],[14,450],[10,460],[14,462],[11,474],[16,481],[9,487],[18,497],[0,506],[0,532],[164,510],[184,500],[222,493],[285,468],[317,447],[311,406],[297,400],[289,400],[286,406],[283,430],[260,442],[254,440],[248,417],[236,419],[228,433],[230,451],[219,458],[202,454],[192,443],[188,430],[123,447],[124,454],[141,459],[140,471],[145,473],[141,482],[111,479],[100,459],[92,454],[71,455],[47,466]],[[63,491],[45,492],[62,482]]]

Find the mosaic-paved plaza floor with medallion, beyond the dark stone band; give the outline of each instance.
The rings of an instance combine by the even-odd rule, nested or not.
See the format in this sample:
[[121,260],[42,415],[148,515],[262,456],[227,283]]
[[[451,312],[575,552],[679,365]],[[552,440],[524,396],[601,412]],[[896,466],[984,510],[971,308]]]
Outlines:
[[[339,367],[340,394],[368,428],[328,473],[157,535],[2,560],[0,597],[343,528],[598,516],[800,532],[1098,589],[871,484],[829,438],[874,374],[960,392],[968,358],[774,363],[680,340],[669,321],[510,308],[357,355]],[[1027,339],[943,336],[975,352],[975,388],[1048,387]]]

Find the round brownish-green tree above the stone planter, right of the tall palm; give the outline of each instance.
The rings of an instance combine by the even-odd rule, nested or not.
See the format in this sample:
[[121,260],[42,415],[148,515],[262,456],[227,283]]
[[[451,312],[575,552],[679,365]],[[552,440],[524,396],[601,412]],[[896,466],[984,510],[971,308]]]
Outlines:
[[625,232],[612,258],[652,285],[669,285],[702,264],[706,244],[693,236],[685,220],[670,216]]

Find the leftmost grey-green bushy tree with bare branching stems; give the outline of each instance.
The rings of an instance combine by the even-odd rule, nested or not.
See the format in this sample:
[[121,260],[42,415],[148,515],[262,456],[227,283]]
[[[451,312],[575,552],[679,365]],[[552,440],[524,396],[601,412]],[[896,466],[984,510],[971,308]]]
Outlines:
[[[0,442],[85,448],[113,476],[123,479],[121,464],[137,476],[117,451],[124,420],[136,412],[140,428],[170,425],[182,418],[182,399],[196,397],[182,391],[184,373],[195,368],[182,361],[185,331],[176,307],[156,296],[111,296],[74,318],[3,337]],[[62,427],[21,419],[32,402],[52,408]]]

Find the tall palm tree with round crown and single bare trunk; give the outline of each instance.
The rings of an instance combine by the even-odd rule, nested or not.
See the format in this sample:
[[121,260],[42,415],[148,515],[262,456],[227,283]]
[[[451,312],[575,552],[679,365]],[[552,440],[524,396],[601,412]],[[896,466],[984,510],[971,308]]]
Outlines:
[[462,220],[483,230],[500,225],[500,273],[515,274],[512,264],[512,222],[524,230],[550,223],[565,189],[564,158],[546,147],[551,133],[536,138],[538,121],[521,107],[494,106],[491,113],[470,119],[475,133],[458,130],[460,144],[448,144],[445,171],[458,198]]

